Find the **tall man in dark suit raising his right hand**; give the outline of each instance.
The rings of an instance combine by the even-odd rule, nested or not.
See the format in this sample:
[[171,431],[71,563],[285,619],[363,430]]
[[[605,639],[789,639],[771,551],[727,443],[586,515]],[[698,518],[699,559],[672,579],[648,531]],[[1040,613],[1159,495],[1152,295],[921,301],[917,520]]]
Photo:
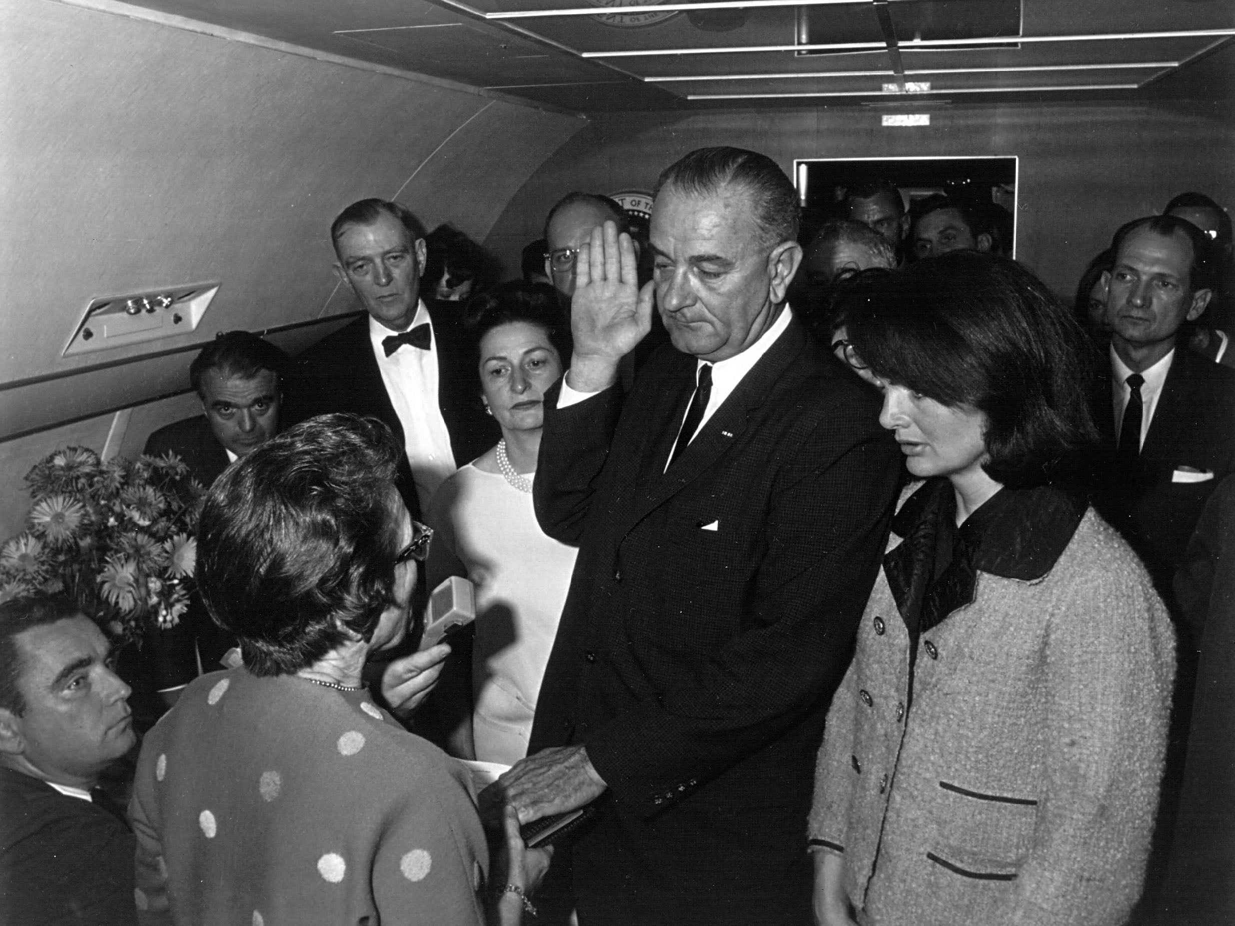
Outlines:
[[[655,279],[611,222],[580,248],[574,353],[535,501],[579,546],[531,749],[485,796],[595,803],[579,921],[809,924],[803,821],[900,472],[878,401],[784,302],[797,196],[704,148],[657,184]],[[653,290],[672,338],[625,394]]]

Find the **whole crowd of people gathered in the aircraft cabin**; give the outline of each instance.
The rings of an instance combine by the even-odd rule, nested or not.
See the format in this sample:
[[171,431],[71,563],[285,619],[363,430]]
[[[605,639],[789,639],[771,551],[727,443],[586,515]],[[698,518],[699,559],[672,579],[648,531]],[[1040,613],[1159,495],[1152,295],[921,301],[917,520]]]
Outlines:
[[803,233],[703,148],[498,284],[345,209],[363,314],[221,335],[147,443],[209,486],[148,714],[0,604],[5,921],[1229,921],[1230,219],[1129,217],[1074,305],[1004,219],[877,181]]

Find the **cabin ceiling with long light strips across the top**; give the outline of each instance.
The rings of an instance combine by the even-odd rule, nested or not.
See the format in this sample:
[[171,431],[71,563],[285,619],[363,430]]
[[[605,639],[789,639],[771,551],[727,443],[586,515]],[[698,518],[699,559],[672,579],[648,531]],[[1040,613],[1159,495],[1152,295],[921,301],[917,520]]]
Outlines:
[[[904,96],[1140,100],[1235,36],[1228,0],[141,5],[584,112]],[[1235,77],[1230,56],[1224,73]],[[1226,96],[1230,84],[1205,81],[1202,93]]]

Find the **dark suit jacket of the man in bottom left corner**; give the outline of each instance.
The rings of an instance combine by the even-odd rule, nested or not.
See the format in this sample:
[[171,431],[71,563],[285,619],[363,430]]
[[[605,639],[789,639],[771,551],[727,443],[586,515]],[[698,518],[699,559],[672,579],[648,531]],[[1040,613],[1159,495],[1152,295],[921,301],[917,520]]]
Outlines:
[[137,843],[101,807],[0,768],[0,920],[40,926],[137,921]]

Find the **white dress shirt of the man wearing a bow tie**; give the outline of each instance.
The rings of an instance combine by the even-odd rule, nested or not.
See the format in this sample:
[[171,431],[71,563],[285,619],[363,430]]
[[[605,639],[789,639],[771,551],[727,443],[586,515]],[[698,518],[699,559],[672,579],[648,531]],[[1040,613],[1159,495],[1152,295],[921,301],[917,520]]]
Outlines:
[[[416,306],[416,317],[405,330],[411,331],[417,325],[433,326],[424,302]],[[450,475],[454,473],[454,452],[451,449],[451,435],[446,430],[446,420],[437,404],[437,336],[432,335],[430,348],[404,344],[389,357],[382,341],[391,331],[369,316],[369,341],[373,356],[382,373],[382,383],[394,406],[399,423],[403,425],[404,451],[411,465],[411,477],[416,483],[416,496],[420,510],[429,510],[429,501]]]

